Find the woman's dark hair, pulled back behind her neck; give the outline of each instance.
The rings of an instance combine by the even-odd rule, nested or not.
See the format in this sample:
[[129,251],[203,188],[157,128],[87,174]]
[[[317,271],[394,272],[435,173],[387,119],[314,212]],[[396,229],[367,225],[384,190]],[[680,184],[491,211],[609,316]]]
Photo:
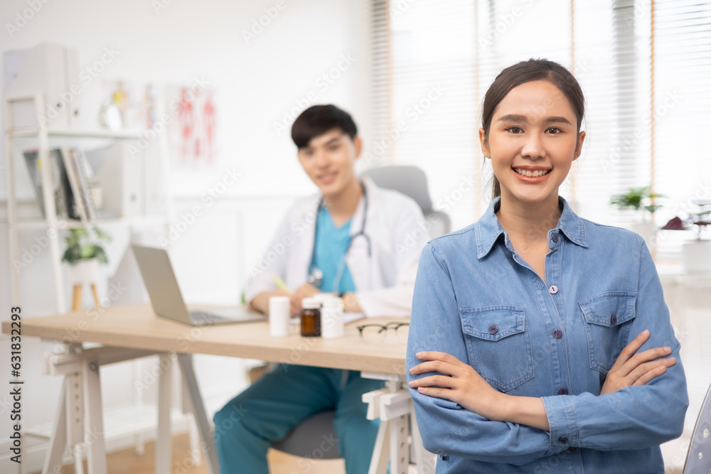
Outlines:
[[[570,106],[577,117],[577,131],[580,131],[582,118],[585,114],[585,97],[582,94],[582,89],[575,79],[572,72],[564,66],[547,59],[529,59],[516,63],[503,71],[499,72],[496,79],[489,86],[484,95],[484,103],[481,112],[481,128],[484,130],[484,138],[488,138],[488,132],[491,128],[491,118],[496,110],[499,102],[515,87],[518,87],[526,82],[535,80],[547,80],[552,85],[555,85],[560,92],[568,98]],[[493,176],[492,198],[498,198],[501,195],[501,184]]]

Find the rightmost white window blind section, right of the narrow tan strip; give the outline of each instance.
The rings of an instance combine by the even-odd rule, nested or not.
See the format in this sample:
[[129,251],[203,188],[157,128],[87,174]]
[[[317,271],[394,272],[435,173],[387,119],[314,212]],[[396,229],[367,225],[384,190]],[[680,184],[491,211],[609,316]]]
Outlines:
[[[663,225],[711,199],[711,2],[656,0],[654,9],[655,190],[667,195]],[[673,258],[693,232],[662,231],[658,257]],[[711,238],[711,232],[707,232]]]

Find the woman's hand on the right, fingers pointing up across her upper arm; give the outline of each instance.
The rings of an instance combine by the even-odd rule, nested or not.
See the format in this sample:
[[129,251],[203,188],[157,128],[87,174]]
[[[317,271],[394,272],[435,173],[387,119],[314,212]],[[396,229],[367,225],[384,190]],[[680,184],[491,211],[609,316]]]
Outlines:
[[[660,359],[671,353],[671,348],[654,348],[636,354],[649,339],[649,331],[643,330],[620,352],[602,385],[601,395],[617,392],[630,385],[643,385],[666,372],[667,367],[676,363],[674,357]],[[656,359],[656,360],[655,360]]]

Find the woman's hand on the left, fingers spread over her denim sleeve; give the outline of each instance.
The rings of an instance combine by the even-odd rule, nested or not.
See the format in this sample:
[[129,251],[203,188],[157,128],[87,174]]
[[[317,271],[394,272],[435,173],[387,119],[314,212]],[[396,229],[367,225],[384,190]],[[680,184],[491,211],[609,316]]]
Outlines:
[[493,389],[469,364],[444,352],[417,352],[417,358],[428,362],[412,367],[412,375],[425,372],[444,375],[412,380],[410,387],[429,397],[451,400],[486,419],[501,420],[501,406],[506,395]]

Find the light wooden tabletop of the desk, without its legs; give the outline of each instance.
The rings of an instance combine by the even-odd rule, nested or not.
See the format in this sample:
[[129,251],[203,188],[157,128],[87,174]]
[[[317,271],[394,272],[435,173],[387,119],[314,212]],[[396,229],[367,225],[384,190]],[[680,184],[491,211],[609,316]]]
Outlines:
[[[191,327],[156,316],[151,306],[144,303],[23,318],[22,335],[68,343],[100,343],[120,348],[227,355],[314,367],[404,374],[405,344],[364,343],[356,329],[363,321],[346,325],[345,336],[341,339],[301,338],[295,325],[287,338],[272,338],[267,323]],[[407,319],[368,319],[368,323],[390,321],[407,322]],[[3,323],[2,329],[9,333],[10,323]]]

